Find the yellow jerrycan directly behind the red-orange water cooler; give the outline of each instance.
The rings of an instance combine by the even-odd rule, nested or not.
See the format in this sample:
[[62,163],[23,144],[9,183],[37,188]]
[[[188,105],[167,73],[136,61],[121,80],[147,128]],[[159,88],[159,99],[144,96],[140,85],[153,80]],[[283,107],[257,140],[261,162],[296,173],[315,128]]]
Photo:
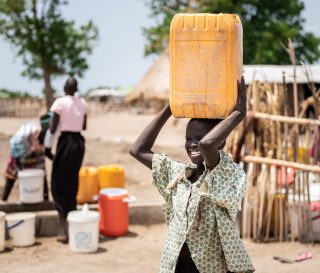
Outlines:
[[98,168],[100,189],[124,188],[124,168],[118,165],[105,165]]

